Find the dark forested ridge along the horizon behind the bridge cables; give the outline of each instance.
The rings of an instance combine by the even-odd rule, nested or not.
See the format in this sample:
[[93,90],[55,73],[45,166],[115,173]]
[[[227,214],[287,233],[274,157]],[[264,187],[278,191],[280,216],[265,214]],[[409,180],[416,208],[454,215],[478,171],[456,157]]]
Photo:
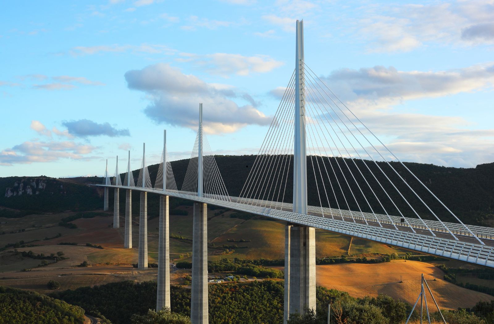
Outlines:
[[[231,196],[239,196],[244,186],[245,180],[252,169],[252,165],[256,156],[216,156],[215,160],[218,164],[219,170],[223,176],[228,193]],[[290,202],[292,199],[292,180],[293,180],[293,160],[287,169],[288,179],[286,184],[285,202]],[[318,159],[319,165],[316,161],[307,160],[307,177],[308,177],[308,199],[309,204],[320,205],[319,195],[317,193],[317,187],[314,185],[314,170],[312,165],[315,165],[316,178],[318,178],[318,187],[320,191],[326,187],[328,196],[321,195],[321,201],[324,206],[328,206],[328,200],[331,207],[337,207],[337,202],[341,209],[348,209],[348,206],[343,199],[343,194],[347,198],[348,205],[351,210],[359,210],[359,206],[363,211],[370,212],[370,208],[367,202],[364,200],[360,189],[353,180],[352,174],[348,171],[345,163],[342,159],[338,158],[334,160],[331,158],[332,166],[337,169],[338,163],[341,169],[344,171],[344,177],[338,171],[337,179],[331,171],[331,164],[326,159],[322,161]],[[384,213],[382,208],[377,202],[374,194],[369,189],[367,183],[363,180],[355,164],[362,170],[366,176],[371,187],[374,189],[379,201],[383,204],[384,208],[390,214],[398,215],[398,211],[393,206],[392,202],[387,198],[384,192],[379,188],[367,167],[362,161],[355,160],[355,163],[349,159],[345,159],[346,164],[352,170],[358,185],[364,192],[374,212]],[[175,175],[176,183],[180,189],[185,173],[187,171],[189,160],[179,160],[171,162],[173,172]],[[377,168],[377,166],[370,161],[365,162],[371,169],[378,181],[383,185],[386,192],[390,195],[391,199],[397,204],[398,208],[407,216],[414,216],[412,210],[407,207],[406,202],[400,197],[397,191],[389,184],[386,177]],[[379,166],[386,170],[386,175],[395,183],[400,183],[398,175],[393,171],[390,171],[389,166],[385,162],[378,162]],[[455,212],[460,219],[469,224],[490,224],[489,220],[494,219],[493,206],[494,206],[494,163],[480,164],[475,168],[455,168],[444,167],[433,164],[423,163],[405,163],[413,173],[421,179],[426,186],[436,194],[449,208]],[[399,163],[392,162],[392,165],[396,168],[398,173],[412,186],[412,188],[427,202],[431,208],[444,220],[452,220],[452,216],[444,209],[435,199],[427,193],[408,171]],[[158,172],[158,164],[150,165],[148,167],[151,180],[154,183]],[[326,180],[323,182],[320,180],[319,169],[322,170]],[[328,170],[329,179],[326,176]],[[135,181],[139,175],[139,170],[133,171]],[[122,174],[122,179],[123,179]],[[270,177],[264,177],[270,178]],[[357,202],[352,198],[350,189],[346,185],[345,178],[348,180],[348,184],[355,194]],[[42,180],[42,181],[41,181]],[[40,181],[44,182],[44,185],[40,186]],[[341,184],[341,190],[338,186],[338,182]],[[33,184],[34,183],[34,184]],[[0,195],[0,215],[4,209],[1,206],[14,208],[18,210],[37,212],[48,212],[57,210],[84,210],[100,208],[102,205],[101,189],[87,186],[88,183],[102,183],[102,178],[71,178],[71,179],[54,179],[47,177],[9,177],[0,178],[0,190],[3,190],[4,195]],[[264,186],[261,184],[259,192],[264,192],[267,188],[265,198],[269,192],[270,183],[264,182]],[[311,185],[312,184],[312,185]],[[331,191],[331,184],[335,189],[334,193]],[[22,188],[21,188],[22,185]],[[27,188],[30,186],[31,188]],[[285,184],[283,184],[285,187]],[[36,191],[34,190],[36,187]],[[42,187],[42,188],[41,188]],[[422,205],[422,203],[416,199],[413,193],[403,183],[398,185],[398,189],[405,194],[407,200],[416,208],[415,210],[425,218],[431,218],[430,212]],[[28,190],[30,192],[28,192]],[[22,191],[22,192],[21,192]],[[21,192],[21,195],[19,195]],[[336,196],[336,199],[335,197]],[[262,195],[260,196],[262,198]],[[110,200],[113,200],[113,195],[110,195]],[[33,203],[36,202],[36,203]],[[122,202],[122,199],[121,199]],[[358,205],[357,205],[358,203]],[[494,225],[490,224],[491,226]]]

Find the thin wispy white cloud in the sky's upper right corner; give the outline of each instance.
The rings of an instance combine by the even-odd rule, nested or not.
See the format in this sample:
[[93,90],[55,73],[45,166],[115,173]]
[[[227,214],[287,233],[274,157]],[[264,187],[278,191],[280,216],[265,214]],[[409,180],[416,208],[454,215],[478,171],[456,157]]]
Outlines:
[[408,52],[428,44],[493,43],[492,1],[362,6],[355,23],[369,52]]

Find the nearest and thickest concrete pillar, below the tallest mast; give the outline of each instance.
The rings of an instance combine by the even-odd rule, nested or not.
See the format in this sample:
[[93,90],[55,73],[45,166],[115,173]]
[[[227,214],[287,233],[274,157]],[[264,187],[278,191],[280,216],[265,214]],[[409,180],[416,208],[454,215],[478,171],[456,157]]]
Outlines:
[[316,310],[316,231],[292,226],[289,235],[289,314],[303,314],[304,306]]

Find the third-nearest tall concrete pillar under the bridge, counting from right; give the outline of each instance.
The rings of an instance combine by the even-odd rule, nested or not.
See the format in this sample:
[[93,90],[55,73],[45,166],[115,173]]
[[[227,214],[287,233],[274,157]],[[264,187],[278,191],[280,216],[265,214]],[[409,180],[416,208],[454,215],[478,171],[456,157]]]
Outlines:
[[160,227],[158,239],[158,293],[156,310],[170,308],[170,232],[168,196],[160,196]]

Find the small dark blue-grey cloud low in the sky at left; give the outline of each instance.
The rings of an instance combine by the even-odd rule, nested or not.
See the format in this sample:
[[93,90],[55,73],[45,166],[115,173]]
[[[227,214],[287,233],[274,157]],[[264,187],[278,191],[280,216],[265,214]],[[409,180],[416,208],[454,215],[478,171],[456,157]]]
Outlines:
[[110,137],[130,136],[128,128],[117,129],[110,125],[109,122],[97,123],[87,119],[81,119],[79,121],[65,121],[62,122],[62,124],[67,127],[67,130],[71,135],[79,137],[101,135]]

